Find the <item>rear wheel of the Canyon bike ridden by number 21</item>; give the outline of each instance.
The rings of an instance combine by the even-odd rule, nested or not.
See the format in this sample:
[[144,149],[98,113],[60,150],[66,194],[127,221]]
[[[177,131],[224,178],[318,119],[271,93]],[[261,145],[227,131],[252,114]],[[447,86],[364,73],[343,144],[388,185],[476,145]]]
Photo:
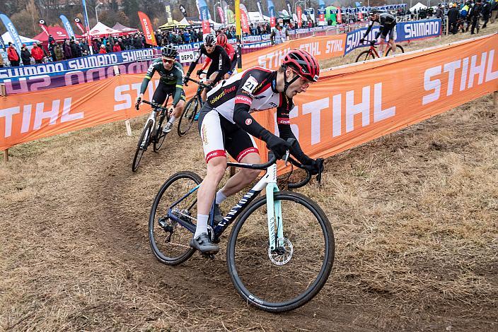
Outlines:
[[[180,198],[202,182],[194,172],[173,174],[159,189],[149,215],[149,241],[154,256],[166,265],[178,265],[190,259],[192,233],[168,218],[168,210]],[[195,225],[197,223],[197,192],[186,196],[172,208],[172,213]]]

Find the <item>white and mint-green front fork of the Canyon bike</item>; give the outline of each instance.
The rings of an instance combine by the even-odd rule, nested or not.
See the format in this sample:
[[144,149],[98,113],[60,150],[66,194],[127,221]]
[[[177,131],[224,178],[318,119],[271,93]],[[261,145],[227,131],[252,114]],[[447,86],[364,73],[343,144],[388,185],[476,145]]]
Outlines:
[[[266,186],[268,237],[270,239],[270,250],[284,247],[284,227],[282,225],[282,205],[280,201],[274,201],[274,193],[279,191],[277,186],[277,165],[268,168],[268,182]],[[275,227],[277,227],[277,239],[275,239]]]

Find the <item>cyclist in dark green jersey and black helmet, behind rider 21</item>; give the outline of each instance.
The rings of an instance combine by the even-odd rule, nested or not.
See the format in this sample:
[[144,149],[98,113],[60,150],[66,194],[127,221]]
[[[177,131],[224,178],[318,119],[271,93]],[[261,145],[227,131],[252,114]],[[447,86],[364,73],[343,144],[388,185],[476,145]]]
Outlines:
[[147,70],[144,81],[141,83],[140,95],[137,97],[137,105],[144,98],[147,85],[151,81],[152,76],[157,71],[161,79],[157,85],[152,102],[158,105],[163,105],[167,95],[173,95],[173,114],[170,120],[164,126],[163,132],[169,133],[173,128],[173,122],[180,117],[185,105],[185,92],[183,91],[183,67],[175,58],[178,50],[173,45],[168,45],[163,48],[161,59],[155,60]]

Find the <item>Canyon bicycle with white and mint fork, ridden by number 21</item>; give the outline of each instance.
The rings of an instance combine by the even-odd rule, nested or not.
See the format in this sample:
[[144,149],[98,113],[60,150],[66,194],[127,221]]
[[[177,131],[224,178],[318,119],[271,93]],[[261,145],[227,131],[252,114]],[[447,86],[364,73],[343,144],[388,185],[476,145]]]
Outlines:
[[[284,160],[306,169],[296,160]],[[226,249],[226,263],[233,285],[245,301],[267,312],[285,312],[301,307],[325,285],[334,261],[332,227],[320,206],[291,191],[279,191],[277,158],[260,165],[228,162],[228,166],[267,170],[253,189],[216,222],[215,205],[209,213],[209,237],[218,243],[233,223]],[[320,172],[317,180],[320,182]],[[304,186],[289,184],[289,189]],[[197,189],[202,179],[193,172],[173,174],[159,189],[149,216],[149,240],[156,258],[175,266],[190,259],[189,247],[197,227]],[[257,195],[265,190],[265,196]],[[267,227],[265,227],[267,225]],[[213,254],[204,253],[213,258]]]

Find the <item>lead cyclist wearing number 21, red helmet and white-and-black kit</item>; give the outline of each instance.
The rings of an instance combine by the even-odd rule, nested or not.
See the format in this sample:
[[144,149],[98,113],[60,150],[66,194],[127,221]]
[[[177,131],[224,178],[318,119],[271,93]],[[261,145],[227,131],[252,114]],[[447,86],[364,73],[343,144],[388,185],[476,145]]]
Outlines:
[[[318,174],[320,162],[309,158],[299,143],[290,146],[286,139],[296,138],[291,131],[292,98],[305,92],[318,81],[318,61],[306,51],[291,50],[277,71],[253,67],[216,85],[209,93],[199,114],[199,133],[202,137],[207,175],[197,194],[197,229],[190,246],[204,253],[214,254],[219,247],[207,235],[209,210],[215,203],[214,220],[221,221],[219,204],[227,196],[236,194],[253,182],[258,170],[241,169],[216,192],[226,170],[226,151],[238,162],[260,163],[260,155],[253,137],[267,143],[277,158],[290,150],[312,174]],[[279,136],[263,128],[250,112],[277,108]]]

